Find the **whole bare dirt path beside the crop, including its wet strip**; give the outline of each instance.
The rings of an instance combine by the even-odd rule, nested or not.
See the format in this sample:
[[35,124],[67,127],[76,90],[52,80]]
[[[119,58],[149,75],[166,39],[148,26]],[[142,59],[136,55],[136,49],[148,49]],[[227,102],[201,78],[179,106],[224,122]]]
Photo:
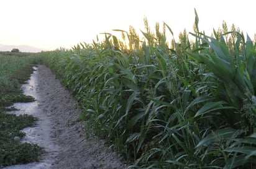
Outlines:
[[27,103],[23,108],[16,105],[21,109],[16,113],[28,113],[39,118],[35,128],[24,130],[28,132],[24,141],[39,144],[45,148],[45,153],[39,163],[5,169],[127,168],[119,155],[107,151],[104,141],[86,139],[85,131],[81,128],[78,104],[48,67],[39,65],[24,90],[37,101]]

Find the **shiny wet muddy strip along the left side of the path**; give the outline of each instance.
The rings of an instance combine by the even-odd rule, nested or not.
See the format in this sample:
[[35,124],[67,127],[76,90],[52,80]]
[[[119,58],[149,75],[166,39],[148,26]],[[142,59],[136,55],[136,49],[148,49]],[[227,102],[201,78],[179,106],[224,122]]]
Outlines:
[[[37,67],[34,67],[37,70]],[[28,80],[27,84],[22,85],[22,90],[25,95],[30,95],[35,98],[35,102],[30,103],[15,103],[14,107],[17,108],[17,111],[9,111],[8,113],[16,114],[16,115],[32,115],[39,119],[37,121],[36,126],[25,128],[22,132],[25,132],[25,137],[21,140],[21,142],[30,142],[33,144],[38,144],[40,147],[43,147],[46,154],[43,154],[40,157],[40,162],[22,164],[22,165],[13,165],[11,167],[5,167],[4,169],[45,169],[50,168],[52,163],[54,162],[54,158],[58,154],[58,145],[55,144],[50,137],[50,119],[45,116],[42,110],[39,108],[40,104],[40,95],[38,94],[37,85],[37,71],[30,76],[30,80]]]

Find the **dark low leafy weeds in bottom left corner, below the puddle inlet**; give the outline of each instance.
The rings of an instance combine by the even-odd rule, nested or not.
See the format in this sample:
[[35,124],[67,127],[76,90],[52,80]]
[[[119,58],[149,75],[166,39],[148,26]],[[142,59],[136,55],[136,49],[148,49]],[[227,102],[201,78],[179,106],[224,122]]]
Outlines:
[[21,129],[34,126],[35,119],[31,115],[10,115],[0,112],[0,164],[2,166],[17,163],[37,162],[42,148],[35,144],[15,141],[14,137],[25,136]]

